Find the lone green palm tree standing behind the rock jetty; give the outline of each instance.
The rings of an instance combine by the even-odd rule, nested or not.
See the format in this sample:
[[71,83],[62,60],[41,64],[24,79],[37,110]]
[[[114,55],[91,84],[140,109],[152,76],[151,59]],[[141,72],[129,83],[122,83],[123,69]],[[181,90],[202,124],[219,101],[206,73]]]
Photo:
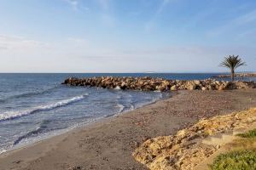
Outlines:
[[246,63],[239,58],[239,55],[229,55],[228,57],[224,58],[224,61],[220,63],[219,66],[223,66],[230,69],[231,80],[233,82],[235,79],[235,70],[242,65],[246,65]]

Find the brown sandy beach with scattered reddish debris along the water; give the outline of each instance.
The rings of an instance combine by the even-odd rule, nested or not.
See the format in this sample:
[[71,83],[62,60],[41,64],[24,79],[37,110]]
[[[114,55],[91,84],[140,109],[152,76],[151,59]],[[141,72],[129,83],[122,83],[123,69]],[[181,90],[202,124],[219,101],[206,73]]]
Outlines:
[[131,156],[146,139],[176,133],[202,117],[255,105],[255,89],[180,91],[172,98],[6,152],[0,156],[0,169],[147,169]]

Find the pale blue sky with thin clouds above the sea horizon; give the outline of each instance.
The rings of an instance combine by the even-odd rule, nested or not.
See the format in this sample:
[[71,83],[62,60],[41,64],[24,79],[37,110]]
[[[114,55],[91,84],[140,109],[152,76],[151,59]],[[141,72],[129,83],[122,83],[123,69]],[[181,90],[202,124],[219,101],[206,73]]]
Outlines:
[[255,0],[0,0],[0,72],[256,71]]

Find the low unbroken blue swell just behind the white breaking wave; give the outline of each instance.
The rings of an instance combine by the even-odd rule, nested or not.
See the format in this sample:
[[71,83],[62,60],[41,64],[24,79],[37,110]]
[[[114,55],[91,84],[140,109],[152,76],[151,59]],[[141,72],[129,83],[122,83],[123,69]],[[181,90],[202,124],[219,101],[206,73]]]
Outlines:
[[17,95],[13,95],[13,96],[9,96],[6,99],[0,99],[0,103],[5,103],[6,101],[10,100],[10,99],[20,99],[20,98],[28,98],[34,95],[40,95],[40,94],[48,94],[50,92],[52,92],[53,90],[55,90],[56,88],[59,88],[60,86],[55,86],[54,88],[46,88],[44,90],[41,91],[34,91],[34,92],[28,92],[26,94],[17,94]]

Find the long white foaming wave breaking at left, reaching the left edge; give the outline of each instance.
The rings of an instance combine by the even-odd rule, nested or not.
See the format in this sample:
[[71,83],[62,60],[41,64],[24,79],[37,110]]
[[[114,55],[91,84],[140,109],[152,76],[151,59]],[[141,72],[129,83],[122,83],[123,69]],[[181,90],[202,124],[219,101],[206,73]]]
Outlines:
[[58,101],[54,104],[41,105],[41,106],[35,107],[31,110],[7,111],[7,112],[4,112],[4,113],[0,114],[0,122],[7,121],[7,120],[12,120],[12,119],[15,119],[15,118],[18,118],[18,117],[21,117],[21,116],[32,115],[32,114],[37,113],[39,111],[51,111],[55,108],[65,106],[65,105],[69,105],[69,104],[77,102],[81,99],[84,99],[84,97],[87,96],[87,95],[88,94],[84,94],[84,95],[73,97],[72,99],[64,99],[64,100]]

